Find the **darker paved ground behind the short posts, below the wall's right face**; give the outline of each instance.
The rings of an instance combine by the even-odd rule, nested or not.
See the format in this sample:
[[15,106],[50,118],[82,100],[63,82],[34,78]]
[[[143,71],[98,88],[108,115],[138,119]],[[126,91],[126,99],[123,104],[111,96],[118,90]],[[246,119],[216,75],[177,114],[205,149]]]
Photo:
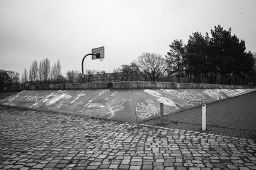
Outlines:
[[[206,121],[207,133],[256,141],[256,92],[207,104]],[[160,119],[157,118],[141,124],[159,125],[159,123]],[[202,107],[164,117],[163,127],[200,132]]]

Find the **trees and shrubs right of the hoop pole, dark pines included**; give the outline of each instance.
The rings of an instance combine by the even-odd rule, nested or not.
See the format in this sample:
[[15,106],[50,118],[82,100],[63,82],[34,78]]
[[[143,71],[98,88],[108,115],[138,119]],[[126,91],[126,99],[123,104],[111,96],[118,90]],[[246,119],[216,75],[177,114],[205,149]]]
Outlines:
[[[188,44],[175,39],[169,45],[170,51],[161,57],[156,53],[143,53],[131,64],[124,64],[113,70],[108,78],[114,81],[177,81],[183,83],[256,84],[256,55],[246,52],[245,42],[232,35],[231,27],[221,25],[206,32],[193,32]],[[106,76],[103,73],[102,76]],[[97,77],[91,71],[87,80]],[[110,77],[110,78],[109,78]]]

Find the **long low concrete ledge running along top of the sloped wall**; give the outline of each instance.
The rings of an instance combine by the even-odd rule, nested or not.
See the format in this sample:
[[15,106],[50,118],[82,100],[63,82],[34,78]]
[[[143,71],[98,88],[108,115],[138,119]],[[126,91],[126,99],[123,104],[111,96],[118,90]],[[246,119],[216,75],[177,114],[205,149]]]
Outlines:
[[[109,86],[109,83],[111,85]],[[66,83],[30,85],[26,90],[72,90],[72,89],[254,89],[247,85],[219,85],[204,83],[173,83],[159,81],[113,81],[93,83]]]

